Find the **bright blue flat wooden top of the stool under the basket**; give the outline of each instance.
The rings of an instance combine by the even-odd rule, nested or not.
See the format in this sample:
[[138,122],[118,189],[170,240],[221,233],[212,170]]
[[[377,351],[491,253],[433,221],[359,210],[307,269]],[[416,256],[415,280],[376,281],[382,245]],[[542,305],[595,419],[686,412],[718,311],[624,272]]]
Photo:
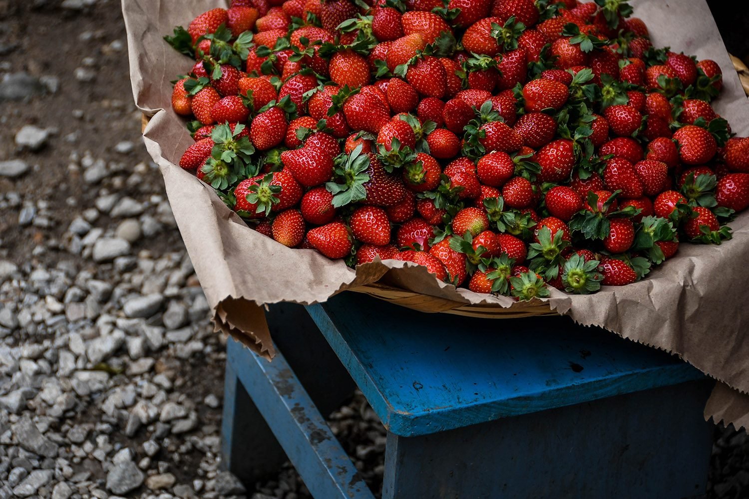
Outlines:
[[567,317],[426,314],[358,293],[306,308],[400,436],[704,378],[678,358]]

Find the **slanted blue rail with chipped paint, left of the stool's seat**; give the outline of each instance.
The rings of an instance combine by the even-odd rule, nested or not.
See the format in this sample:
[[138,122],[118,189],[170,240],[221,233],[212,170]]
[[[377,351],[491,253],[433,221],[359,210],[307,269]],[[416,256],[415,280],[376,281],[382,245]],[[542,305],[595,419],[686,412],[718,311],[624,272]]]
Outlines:
[[[252,397],[315,498],[374,499],[281,353],[268,362],[231,339],[226,353],[231,371]],[[231,385],[227,386],[228,397],[234,397],[236,387],[232,392]],[[233,414],[231,420],[237,417],[241,414]],[[225,427],[224,431],[225,452],[234,450],[231,459],[241,459],[237,456],[237,442],[232,446],[231,428]],[[248,452],[251,445],[246,442]]]

